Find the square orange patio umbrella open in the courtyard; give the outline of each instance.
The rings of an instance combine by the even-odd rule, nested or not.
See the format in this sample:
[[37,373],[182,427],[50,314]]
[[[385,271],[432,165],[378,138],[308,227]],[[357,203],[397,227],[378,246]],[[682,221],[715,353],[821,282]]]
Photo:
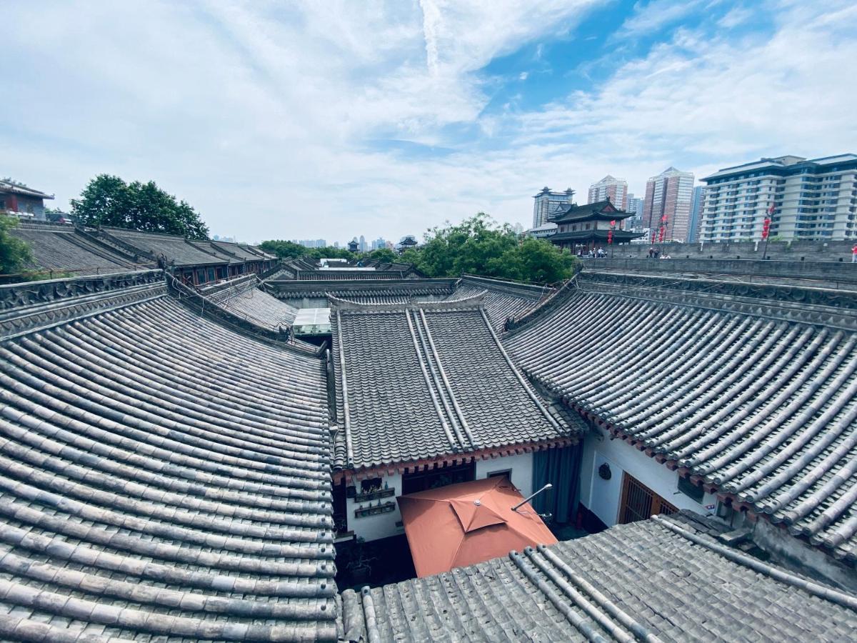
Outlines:
[[506,478],[482,478],[399,496],[417,576],[448,572],[556,538]]

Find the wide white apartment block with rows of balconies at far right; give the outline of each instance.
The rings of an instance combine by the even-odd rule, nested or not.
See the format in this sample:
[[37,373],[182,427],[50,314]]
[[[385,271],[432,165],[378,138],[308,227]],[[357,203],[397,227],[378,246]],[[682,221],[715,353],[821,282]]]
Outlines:
[[780,156],[705,177],[699,241],[857,238],[857,155]]

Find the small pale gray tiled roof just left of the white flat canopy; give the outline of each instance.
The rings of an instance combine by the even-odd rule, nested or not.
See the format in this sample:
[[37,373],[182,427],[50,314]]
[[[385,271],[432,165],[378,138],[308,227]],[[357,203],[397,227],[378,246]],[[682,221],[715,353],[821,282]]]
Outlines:
[[270,330],[291,327],[297,308],[272,297],[258,285],[259,279],[255,274],[249,274],[211,288],[202,288],[201,293],[208,301],[256,326]]

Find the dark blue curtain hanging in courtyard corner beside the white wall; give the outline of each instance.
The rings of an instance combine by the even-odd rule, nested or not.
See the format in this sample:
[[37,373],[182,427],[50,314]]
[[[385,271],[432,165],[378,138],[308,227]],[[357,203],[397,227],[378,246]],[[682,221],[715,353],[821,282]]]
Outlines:
[[580,462],[583,445],[548,448],[533,454],[533,491],[547,483],[554,488],[533,498],[532,506],[539,514],[554,514],[556,522],[570,522],[578,514],[580,499]]

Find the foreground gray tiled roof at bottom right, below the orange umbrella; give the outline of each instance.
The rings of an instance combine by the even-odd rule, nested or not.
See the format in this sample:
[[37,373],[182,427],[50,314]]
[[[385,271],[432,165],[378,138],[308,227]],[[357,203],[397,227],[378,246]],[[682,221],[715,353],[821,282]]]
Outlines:
[[728,549],[692,515],[343,593],[345,640],[852,640],[857,598]]

